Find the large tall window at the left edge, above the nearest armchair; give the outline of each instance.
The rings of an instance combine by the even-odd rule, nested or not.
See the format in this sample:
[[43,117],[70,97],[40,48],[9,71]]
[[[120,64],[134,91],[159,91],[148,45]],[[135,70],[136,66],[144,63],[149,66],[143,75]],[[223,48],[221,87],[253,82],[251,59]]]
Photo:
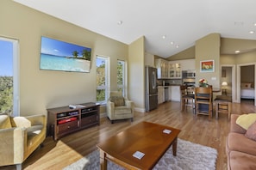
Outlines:
[[0,37],[0,112],[19,116],[18,41]]

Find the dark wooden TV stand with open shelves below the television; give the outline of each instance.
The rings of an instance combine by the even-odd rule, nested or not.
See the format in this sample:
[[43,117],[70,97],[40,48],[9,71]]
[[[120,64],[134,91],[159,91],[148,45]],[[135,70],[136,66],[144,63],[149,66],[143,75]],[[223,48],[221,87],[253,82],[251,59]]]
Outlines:
[[99,105],[92,102],[79,104],[74,109],[69,106],[50,108],[47,109],[47,114],[47,135],[54,140],[100,124]]

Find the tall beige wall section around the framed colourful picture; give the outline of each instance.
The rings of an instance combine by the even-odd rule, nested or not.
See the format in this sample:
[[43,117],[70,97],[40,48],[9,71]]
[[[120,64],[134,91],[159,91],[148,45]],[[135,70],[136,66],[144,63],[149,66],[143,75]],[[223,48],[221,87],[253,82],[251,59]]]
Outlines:
[[[219,33],[211,33],[196,41],[196,74],[199,79],[205,78],[213,88],[220,88],[220,46],[221,38]],[[200,72],[200,61],[214,60],[214,72]]]

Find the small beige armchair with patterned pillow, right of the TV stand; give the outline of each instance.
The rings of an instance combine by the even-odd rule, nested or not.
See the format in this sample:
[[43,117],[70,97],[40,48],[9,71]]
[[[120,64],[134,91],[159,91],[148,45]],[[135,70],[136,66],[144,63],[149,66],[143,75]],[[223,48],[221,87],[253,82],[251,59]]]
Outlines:
[[111,123],[114,120],[131,118],[134,120],[134,102],[122,97],[122,92],[110,92],[107,101],[107,114]]

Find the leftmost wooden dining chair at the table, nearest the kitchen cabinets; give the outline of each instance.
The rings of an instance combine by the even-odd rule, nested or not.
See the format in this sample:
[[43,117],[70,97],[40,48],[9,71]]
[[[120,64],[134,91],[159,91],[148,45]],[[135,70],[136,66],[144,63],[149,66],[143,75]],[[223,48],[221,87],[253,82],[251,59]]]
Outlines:
[[180,94],[181,94],[181,110],[184,111],[184,109],[186,109],[187,111],[187,107],[191,107],[193,109],[193,113],[196,113],[194,88],[188,88],[185,85],[181,85]]

